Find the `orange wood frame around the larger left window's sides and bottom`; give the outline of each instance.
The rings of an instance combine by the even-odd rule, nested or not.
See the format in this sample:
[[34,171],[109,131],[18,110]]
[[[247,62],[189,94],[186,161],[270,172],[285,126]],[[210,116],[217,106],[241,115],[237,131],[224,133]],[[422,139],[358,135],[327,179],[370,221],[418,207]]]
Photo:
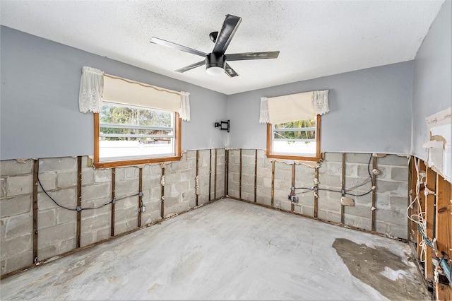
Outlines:
[[174,112],[174,155],[161,156],[156,158],[137,158],[131,160],[114,160],[102,161],[99,158],[99,138],[100,138],[100,120],[99,113],[94,113],[94,161],[95,168],[120,167],[129,165],[141,165],[148,163],[163,163],[169,161],[177,161],[182,158],[181,151],[181,137],[182,137],[182,119],[179,118],[179,113]]

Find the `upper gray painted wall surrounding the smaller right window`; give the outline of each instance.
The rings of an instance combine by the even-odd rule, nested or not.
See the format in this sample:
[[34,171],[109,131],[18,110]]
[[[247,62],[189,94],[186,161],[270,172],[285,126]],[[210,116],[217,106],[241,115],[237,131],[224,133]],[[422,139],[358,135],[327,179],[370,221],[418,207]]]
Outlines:
[[260,98],[329,89],[321,151],[410,153],[412,61],[230,95],[230,148],[266,148]]

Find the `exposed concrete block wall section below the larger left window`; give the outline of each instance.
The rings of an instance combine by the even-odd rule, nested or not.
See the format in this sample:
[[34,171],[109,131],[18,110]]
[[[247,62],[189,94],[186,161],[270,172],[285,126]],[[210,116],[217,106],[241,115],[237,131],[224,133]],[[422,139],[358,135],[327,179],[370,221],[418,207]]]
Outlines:
[[[196,152],[162,165],[116,167],[114,235],[138,228],[139,174],[145,212],[141,225],[174,216],[196,206]],[[200,150],[198,205],[225,195],[225,149]],[[210,155],[212,153],[212,155]],[[216,187],[215,184],[215,153]],[[113,169],[95,169],[81,157],[81,247],[100,242],[112,231]],[[33,264],[33,160],[0,161],[1,275]],[[76,209],[78,158],[39,159],[39,179],[49,196],[61,206]],[[164,216],[161,216],[162,168],[165,168]],[[210,170],[212,174],[210,174]],[[209,186],[209,175],[211,178]],[[210,191],[209,191],[210,187]],[[216,194],[215,194],[216,189]],[[210,192],[210,197],[209,197]],[[38,187],[37,261],[77,248],[77,211],[58,206]]]

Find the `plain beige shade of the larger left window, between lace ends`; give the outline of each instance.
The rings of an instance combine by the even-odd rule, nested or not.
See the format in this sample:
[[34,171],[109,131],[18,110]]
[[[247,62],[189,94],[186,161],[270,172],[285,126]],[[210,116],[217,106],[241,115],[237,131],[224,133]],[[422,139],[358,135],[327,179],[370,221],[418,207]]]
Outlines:
[[108,74],[104,74],[102,99],[124,105],[151,107],[172,112],[178,112],[181,109],[179,92]]

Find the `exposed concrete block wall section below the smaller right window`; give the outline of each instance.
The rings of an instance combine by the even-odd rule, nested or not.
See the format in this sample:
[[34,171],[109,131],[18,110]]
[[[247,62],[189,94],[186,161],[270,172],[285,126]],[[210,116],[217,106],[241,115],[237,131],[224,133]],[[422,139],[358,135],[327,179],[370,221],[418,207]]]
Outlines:
[[[229,189],[227,191],[229,196],[234,199],[254,201],[254,170],[257,165],[256,203],[266,206],[272,204],[273,184],[274,208],[284,211],[293,210],[294,213],[314,217],[314,191],[310,189],[314,187],[315,164],[295,162],[295,187],[297,187],[295,194],[299,197],[299,202],[291,203],[288,196],[292,187],[294,162],[269,160],[263,150],[257,150],[256,162],[256,150],[253,149],[242,149],[241,160],[240,152],[237,149],[229,151]],[[354,206],[343,206],[343,208],[340,203],[343,153],[325,153],[324,155],[324,160],[318,168],[319,199],[316,218],[341,223],[343,215],[343,225],[372,230],[372,182],[369,177],[369,172],[373,169],[372,155],[345,154],[344,188],[348,194],[346,196],[353,199]],[[272,164],[274,165],[273,183]],[[408,158],[398,155],[377,158],[376,169],[380,173],[376,176],[375,231],[391,237],[407,239],[408,218],[405,211],[408,206]],[[357,188],[352,189],[353,187]]]

